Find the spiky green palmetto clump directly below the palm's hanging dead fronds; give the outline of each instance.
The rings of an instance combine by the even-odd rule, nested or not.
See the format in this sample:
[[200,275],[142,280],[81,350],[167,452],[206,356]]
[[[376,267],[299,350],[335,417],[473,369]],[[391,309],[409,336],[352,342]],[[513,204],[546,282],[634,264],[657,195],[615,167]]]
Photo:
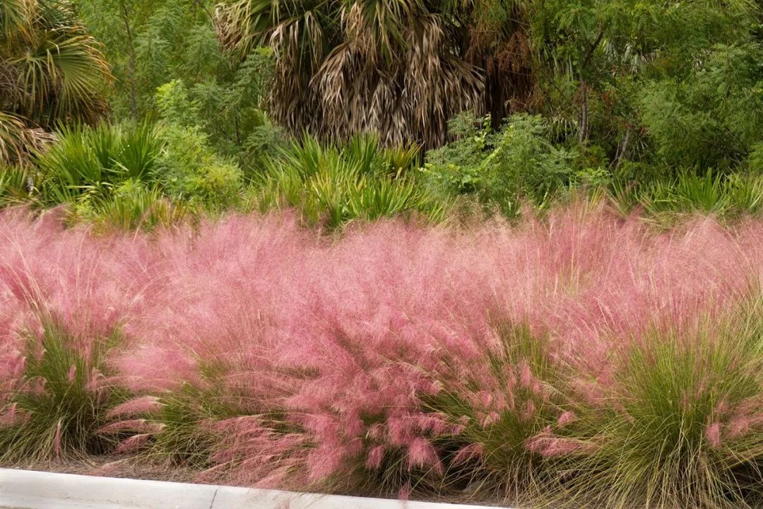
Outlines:
[[263,211],[297,208],[308,224],[330,229],[398,214],[441,221],[447,201],[420,186],[416,161],[410,147],[382,149],[370,136],[354,137],[344,148],[324,147],[306,136],[269,163],[253,199]]

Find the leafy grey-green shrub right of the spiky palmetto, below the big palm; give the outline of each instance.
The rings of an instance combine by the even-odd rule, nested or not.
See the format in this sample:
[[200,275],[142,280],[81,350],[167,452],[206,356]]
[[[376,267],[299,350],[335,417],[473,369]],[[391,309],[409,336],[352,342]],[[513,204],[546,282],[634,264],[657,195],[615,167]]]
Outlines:
[[497,131],[489,119],[481,127],[467,119],[451,124],[459,140],[427,154],[424,172],[433,188],[477,195],[513,216],[523,198],[542,207],[574,181],[575,153],[551,143],[542,117],[513,115]]

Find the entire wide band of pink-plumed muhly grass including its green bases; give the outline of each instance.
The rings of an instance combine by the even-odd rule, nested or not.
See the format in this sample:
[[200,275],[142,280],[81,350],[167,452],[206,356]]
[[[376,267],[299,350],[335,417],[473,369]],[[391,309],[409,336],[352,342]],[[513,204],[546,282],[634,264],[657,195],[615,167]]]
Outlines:
[[[0,213],[0,458],[580,507],[756,507],[763,223],[571,207],[95,237]],[[562,505],[564,505],[562,504]]]

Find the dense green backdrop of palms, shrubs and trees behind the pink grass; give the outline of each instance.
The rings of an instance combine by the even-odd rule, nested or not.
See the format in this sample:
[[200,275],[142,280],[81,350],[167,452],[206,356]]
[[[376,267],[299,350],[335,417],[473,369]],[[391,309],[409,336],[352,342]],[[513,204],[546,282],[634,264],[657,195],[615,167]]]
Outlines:
[[748,0],[9,0],[0,203],[754,214],[761,26]]

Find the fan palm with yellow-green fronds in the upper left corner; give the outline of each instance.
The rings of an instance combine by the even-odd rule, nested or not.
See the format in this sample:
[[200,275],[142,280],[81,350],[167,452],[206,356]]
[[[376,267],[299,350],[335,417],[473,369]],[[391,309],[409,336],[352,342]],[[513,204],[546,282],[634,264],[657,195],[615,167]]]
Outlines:
[[0,160],[21,161],[59,121],[105,113],[109,66],[67,0],[0,2]]

